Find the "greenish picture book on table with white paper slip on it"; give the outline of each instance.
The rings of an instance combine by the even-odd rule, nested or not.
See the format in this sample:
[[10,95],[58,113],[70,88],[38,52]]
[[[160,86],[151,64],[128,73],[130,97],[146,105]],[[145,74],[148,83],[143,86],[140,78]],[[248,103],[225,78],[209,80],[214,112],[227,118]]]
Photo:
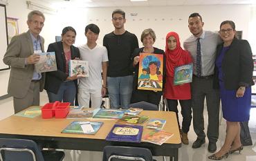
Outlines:
[[83,134],[95,134],[103,122],[80,122],[74,121],[69,124],[62,133],[83,133]]

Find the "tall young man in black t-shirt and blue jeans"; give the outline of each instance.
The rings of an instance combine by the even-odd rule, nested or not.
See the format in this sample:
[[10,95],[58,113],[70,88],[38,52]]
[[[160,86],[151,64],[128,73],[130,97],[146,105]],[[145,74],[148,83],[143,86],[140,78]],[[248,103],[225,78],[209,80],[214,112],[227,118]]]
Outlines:
[[103,39],[109,57],[107,88],[111,108],[128,108],[131,100],[133,73],[129,64],[134,49],[138,48],[138,39],[136,35],[125,30],[125,21],[125,12],[114,10],[112,23],[115,30]]

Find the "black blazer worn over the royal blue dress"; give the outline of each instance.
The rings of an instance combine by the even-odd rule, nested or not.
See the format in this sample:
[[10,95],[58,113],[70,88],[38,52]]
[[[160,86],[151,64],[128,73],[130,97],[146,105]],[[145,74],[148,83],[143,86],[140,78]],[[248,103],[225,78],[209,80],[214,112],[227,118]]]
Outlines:
[[[217,57],[220,55],[223,43],[217,46]],[[252,86],[253,83],[253,53],[250,44],[244,39],[233,39],[226,51],[221,68],[223,82],[227,90],[237,90],[239,86]],[[214,68],[214,88],[219,88],[219,71]]]

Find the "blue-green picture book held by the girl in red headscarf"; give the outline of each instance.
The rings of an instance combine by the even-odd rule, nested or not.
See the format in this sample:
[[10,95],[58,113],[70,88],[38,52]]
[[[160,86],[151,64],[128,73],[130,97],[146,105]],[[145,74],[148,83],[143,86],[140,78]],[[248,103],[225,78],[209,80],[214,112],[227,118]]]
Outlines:
[[192,82],[193,64],[177,66],[174,69],[174,85]]

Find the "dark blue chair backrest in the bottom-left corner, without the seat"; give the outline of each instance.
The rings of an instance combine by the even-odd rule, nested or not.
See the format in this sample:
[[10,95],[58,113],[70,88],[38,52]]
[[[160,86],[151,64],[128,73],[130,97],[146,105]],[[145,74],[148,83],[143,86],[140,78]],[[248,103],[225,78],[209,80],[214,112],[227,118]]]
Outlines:
[[44,158],[33,140],[0,138],[0,160],[44,161]]

